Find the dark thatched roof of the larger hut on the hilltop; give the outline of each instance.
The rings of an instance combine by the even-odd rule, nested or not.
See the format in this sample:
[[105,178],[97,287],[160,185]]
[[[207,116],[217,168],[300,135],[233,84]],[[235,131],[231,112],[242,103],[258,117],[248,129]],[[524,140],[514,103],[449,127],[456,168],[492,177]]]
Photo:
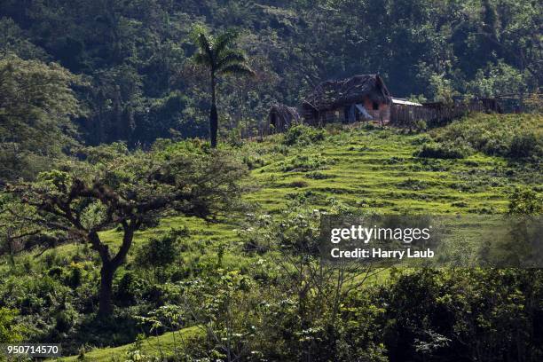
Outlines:
[[390,104],[390,93],[381,76],[354,75],[342,81],[320,83],[302,106],[320,112],[359,102],[365,96],[374,102]]

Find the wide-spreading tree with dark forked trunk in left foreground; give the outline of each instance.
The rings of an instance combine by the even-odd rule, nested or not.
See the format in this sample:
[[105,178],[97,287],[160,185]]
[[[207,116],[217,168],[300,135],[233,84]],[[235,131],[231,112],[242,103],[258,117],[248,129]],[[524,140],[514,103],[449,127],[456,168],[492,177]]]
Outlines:
[[[238,180],[244,169],[231,158],[206,153],[185,144],[150,153],[128,153],[103,147],[62,170],[39,175],[34,183],[8,187],[23,205],[4,204],[18,220],[58,240],[88,243],[102,263],[98,314],[113,309],[114,272],[124,262],[134,234],[165,214],[209,219],[232,213],[239,202]],[[118,226],[122,243],[116,251],[99,232]]]

